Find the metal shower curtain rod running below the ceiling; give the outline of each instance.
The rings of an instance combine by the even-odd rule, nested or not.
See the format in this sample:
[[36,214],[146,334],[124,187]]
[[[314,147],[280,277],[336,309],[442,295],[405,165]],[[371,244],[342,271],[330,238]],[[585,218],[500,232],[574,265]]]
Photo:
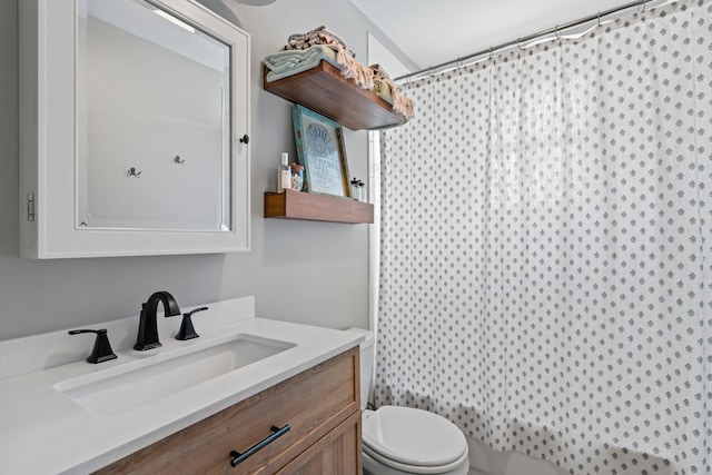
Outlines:
[[[394,81],[404,81],[408,79],[422,79],[432,76],[442,75],[447,71],[452,71],[454,69],[458,69],[465,66],[474,65],[479,60],[485,58],[492,58],[494,53],[501,53],[505,50],[512,48],[526,49],[534,44],[542,43],[544,41],[561,39],[561,38],[581,38],[582,36],[589,33],[594,28],[600,27],[603,23],[611,22],[624,14],[631,12],[631,10],[640,9],[644,12],[646,9],[652,9],[656,7],[662,7],[668,3],[673,3],[679,0],[637,0],[632,3],[626,3],[621,7],[612,8],[604,11],[599,11],[596,14],[591,14],[589,17],[584,17],[582,19],[571,21],[568,23],[558,24],[553,28],[548,28],[546,30],[542,30],[537,33],[530,34],[523,38],[517,38],[516,40],[507,41],[495,47],[491,47],[486,50],[481,50],[472,55],[467,55],[462,58],[457,58],[454,60],[449,60],[446,62],[442,62],[439,65],[431,66],[429,68],[422,69],[419,71],[409,72],[407,75],[399,76],[394,79]],[[593,22],[594,24],[587,27],[582,31],[576,31],[575,33],[566,33],[566,31],[576,29],[576,27],[585,26],[586,23]]]

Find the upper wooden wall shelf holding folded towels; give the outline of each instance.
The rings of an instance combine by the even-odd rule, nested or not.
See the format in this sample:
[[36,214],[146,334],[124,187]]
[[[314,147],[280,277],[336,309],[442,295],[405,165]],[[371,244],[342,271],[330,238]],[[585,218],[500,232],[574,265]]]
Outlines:
[[267,82],[269,69],[263,66],[263,85],[283,99],[319,112],[352,130],[398,126],[406,118],[374,92],[362,89],[340,69],[322,60],[319,66]]

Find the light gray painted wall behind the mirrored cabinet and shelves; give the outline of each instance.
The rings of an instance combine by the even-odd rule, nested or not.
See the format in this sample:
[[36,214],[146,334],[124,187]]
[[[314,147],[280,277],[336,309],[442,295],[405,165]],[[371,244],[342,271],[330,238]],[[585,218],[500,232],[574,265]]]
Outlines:
[[[368,227],[261,217],[279,154],[294,157],[295,146],[291,105],[263,91],[260,61],[290,33],[320,24],[365,61],[367,31],[376,29],[348,0],[278,0],[261,8],[202,1],[251,34],[251,253],[68,260],[18,258],[17,2],[0,0],[0,339],[138,315],[159,289],[182,306],[255,295],[258,316],[367,326]],[[346,131],[345,140],[352,175],[365,178],[367,133]]]

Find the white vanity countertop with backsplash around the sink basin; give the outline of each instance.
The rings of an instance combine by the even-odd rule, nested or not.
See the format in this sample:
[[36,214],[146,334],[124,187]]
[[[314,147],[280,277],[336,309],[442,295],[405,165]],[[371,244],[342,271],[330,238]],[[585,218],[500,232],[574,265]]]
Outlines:
[[[170,323],[176,326],[180,324],[179,317],[159,316],[164,326],[160,328],[164,346],[146,353],[126,347],[130,345],[131,325],[138,325],[137,318],[109,323],[105,327],[109,327],[109,338],[118,358],[98,365],[71,356],[73,363],[44,368],[24,367],[22,374],[12,374],[13,368],[8,369],[11,365],[9,359],[21,358],[22,352],[41,350],[33,346],[46,345],[52,338],[61,339],[66,331],[0,342],[0,355],[6,360],[4,367],[0,368],[0,377],[3,377],[0,379],[0,473],[90,473],[323,363],[363,339],[348,331],[255,318],[251,297],[208,306],[212,316],[201,315],[204,318],[194,320],[200,338],[188,342],[174,339],[175,331],[166,333],[168,324],[160,321],[176,320]],[[249,308],[253,309],[251,315]],[[118,344],[111,338],[112,329],[119,336]],[[99,372],[116,372],[113,368],[121,365],[165,358],[170,352],[186,352],[191,345],[206,345],[207,342],[238,334],[281,340],[294,346],[116,415],[91,414],[55,389],[66,380],[91,378]],[[62,345],[68,344],[85,349],[82,354],[86,357],[91,340],[89,337],[73,338],[65,339],[56,348],[46,347],[44,362],[61,360],[58,353],[61,353]]]

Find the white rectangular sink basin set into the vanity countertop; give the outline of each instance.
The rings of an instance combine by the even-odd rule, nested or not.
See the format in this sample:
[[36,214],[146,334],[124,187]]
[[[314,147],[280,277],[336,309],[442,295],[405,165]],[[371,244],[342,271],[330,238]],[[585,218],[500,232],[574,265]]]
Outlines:
[[[55,389],[97,416],[113,416],[176,394],[295,344],[240,334],[212,346],[180,348],[68,379]],[[182,352],[181,352],[182,350]]]

